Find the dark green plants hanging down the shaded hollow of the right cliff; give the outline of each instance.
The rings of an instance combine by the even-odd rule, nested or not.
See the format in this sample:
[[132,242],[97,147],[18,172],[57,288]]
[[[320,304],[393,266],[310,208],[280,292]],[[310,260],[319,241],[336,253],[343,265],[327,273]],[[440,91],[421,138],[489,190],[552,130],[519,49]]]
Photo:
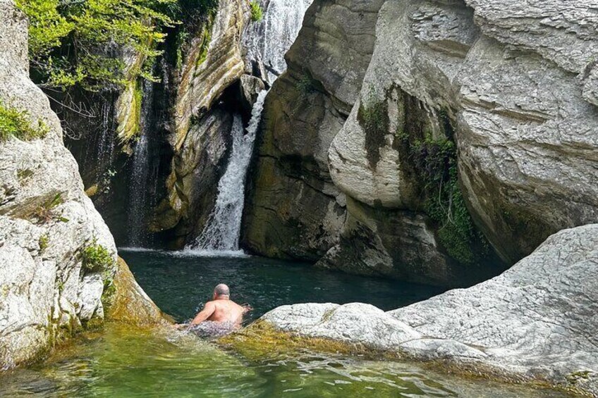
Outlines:
[[449,139],[425,140],[411,145],[415,168],[425,183],[425,211],[439,225],[440,242],[460,263],[473,264],[489,251],[477,231],[458,186],[457,151]]

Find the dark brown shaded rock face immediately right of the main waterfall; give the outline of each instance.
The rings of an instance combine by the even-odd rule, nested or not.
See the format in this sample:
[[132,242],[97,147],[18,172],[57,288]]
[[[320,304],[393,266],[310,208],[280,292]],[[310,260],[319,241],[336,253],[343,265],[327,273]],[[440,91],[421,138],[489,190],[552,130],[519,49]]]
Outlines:
[[315,1],[307,10],[264,108],[242,237],[252,251],[316,261],[338,241],[346,200],[327,151],[357,97],[380,6]]

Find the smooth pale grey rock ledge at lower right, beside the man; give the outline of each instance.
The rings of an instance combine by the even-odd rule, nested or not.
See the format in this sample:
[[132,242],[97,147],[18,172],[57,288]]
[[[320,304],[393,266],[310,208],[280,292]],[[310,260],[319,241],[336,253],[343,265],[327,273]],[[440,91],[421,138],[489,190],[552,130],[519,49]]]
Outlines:
[[324,338],[465,373],[598,396],[598,224],[551,235],[502,275],[384,312],[369,304],[295,304],[262,318]]

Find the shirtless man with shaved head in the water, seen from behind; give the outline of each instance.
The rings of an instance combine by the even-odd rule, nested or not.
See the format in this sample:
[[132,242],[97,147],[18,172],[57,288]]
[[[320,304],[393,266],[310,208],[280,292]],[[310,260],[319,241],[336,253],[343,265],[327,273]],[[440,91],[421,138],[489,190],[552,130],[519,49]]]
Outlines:
[[251,311],[250,306],[240,306],[231,300],[231,291],[221,283],[214,287],[212,301],[208,301],[204,309],[197,313],[190,325],[199,325],[203,321],[229,323],[239,326],[243,321],[243,314]]

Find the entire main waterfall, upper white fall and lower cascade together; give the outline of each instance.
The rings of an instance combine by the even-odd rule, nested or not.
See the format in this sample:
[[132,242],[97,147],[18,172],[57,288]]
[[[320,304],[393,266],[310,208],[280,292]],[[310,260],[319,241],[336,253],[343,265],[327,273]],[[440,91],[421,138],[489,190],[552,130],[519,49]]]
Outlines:
[[[286,70],[284,54],[297,38],[305,11],[313,0],[261,0],[264,16],[260,23],[252,23],[243,35],[248,63],[260,64],[265,71],[262,78],[271,85]],[[257,127],[262,118],[267,91],[260,92],[255,102],[247,132],[243,135],[240,116],[234,118],[231,135],[233,148],[224,175],[218,184],[218,196],[206,227],[193,244],[187,247],[200,255],[243,254],[239,250],[239,236],[245,178],[247,176]]]

